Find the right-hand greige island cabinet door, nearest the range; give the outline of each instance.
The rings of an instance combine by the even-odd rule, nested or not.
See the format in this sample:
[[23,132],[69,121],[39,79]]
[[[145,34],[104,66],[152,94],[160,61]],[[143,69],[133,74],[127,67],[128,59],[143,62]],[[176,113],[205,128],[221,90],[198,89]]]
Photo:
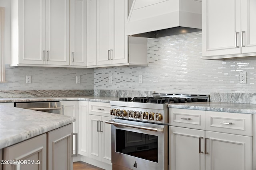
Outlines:
[[48,132],[47,170],[73,170],[72,124]]

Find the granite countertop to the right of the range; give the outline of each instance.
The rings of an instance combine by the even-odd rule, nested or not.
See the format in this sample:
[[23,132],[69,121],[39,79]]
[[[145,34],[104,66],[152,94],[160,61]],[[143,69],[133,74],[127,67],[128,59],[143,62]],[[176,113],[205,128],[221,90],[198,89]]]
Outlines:
[[195,102],[195,103],[168,104],[168,107],[180,108],[180,109],[256,114],[256,104],[238,104],[238,103],[224,103],[224,102]]

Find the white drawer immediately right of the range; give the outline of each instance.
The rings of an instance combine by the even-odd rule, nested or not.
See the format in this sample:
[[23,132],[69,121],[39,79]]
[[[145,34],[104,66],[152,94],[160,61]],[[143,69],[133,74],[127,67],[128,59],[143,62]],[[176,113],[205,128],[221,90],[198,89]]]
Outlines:
[[176,108],[170,108],[169,111],[171,126],[205,129],[204,111]]

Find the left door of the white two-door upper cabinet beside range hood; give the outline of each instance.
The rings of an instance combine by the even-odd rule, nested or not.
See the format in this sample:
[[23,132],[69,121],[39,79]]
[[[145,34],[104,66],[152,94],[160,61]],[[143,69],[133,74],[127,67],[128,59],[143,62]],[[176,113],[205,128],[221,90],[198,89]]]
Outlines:
[[112,3],[111,0],[98,0],[97,4],[97,65],[110,64],[110,55],[113,49],[110,49],[110,38],[112,33]]

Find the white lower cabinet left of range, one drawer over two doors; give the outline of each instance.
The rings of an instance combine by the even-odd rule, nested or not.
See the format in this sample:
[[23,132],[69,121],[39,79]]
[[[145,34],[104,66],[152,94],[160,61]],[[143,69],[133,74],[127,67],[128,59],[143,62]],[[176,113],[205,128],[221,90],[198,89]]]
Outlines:
[[89,104],[89,157],[111,164],[111,125],[109,103],[90,102]]

